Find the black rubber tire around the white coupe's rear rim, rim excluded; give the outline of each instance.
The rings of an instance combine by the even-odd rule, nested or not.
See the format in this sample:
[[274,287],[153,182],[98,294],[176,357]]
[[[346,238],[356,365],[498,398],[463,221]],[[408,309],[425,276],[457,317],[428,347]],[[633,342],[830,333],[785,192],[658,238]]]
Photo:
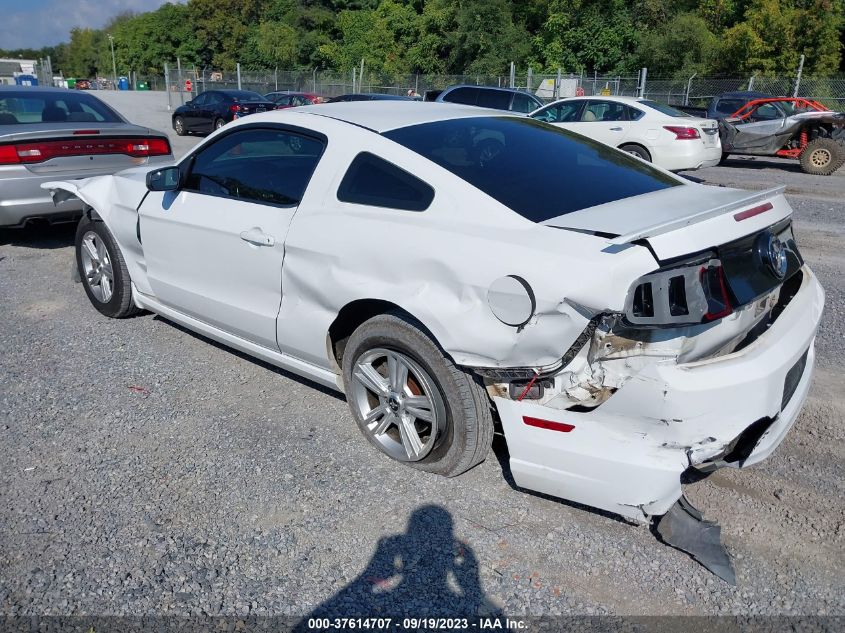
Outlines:
[[432,440],[430,452],[419,461],[397,461],[446,477],[460,475],[483,462],[493,441],[493,412],[484,385],[477,376],[452,363],[425,333],[425,328],[402,313],[382,314],[366,321],[353,332],[344,349],[347,402],[364,437],[396,459],[367,430],[353,395],[356,389],[353,381],[358,380],[353,377],[356,363],[365,354],[380,349],[399,352],[427,372],[437,392],[432,400],[443,407],[445,423]]

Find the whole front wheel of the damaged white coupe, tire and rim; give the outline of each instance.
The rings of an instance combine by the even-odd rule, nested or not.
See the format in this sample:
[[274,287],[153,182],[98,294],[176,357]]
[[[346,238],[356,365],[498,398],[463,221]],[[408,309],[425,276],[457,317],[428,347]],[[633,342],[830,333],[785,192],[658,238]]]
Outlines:
[[76,265],[91,304],[114,319],[137,314],[126,261],[106,225],[83,216],[76,228]]

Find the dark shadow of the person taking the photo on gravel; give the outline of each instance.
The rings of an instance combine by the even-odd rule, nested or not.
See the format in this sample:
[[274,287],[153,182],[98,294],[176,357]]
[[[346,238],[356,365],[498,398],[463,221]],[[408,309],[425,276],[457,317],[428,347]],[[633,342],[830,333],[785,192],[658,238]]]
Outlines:
[[504,622],[504,615],[481,589],[475,553],[453,534],[452,516],[440,506],[426,505],[414,510],[404,534],[379,540],[366,569],[293,630],[319,630],[314,626],[319,618],[437,617],[472,622],[480,616]]

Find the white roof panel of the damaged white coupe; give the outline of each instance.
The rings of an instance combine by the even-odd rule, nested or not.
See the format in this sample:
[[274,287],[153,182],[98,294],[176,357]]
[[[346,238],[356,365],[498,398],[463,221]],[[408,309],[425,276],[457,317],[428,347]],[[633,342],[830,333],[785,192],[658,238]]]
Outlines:
[[[301,106],[287,110],[274,110],[266,114],[245,117],[263,117],[265,119],[288,118],[299,115],[319,115],[344,121],[352,125],[382,133],[409,125],[464,119],[481,116],[521,117],[503,110],[477,108],[475,106],[451,103],[426,103],[424,101],[350,101],[345,103],[325,103],[316,106]],[[253,119],[254,120],[254,119]]]

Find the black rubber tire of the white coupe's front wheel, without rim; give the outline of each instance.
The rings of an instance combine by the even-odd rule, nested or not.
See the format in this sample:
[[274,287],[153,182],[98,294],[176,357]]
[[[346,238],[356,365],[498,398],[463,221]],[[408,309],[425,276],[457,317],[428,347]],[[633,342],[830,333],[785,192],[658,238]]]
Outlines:
[[[98,296],[97,291],[92,287],[91,277],[89,277],[89,271],[86,269],[89,264],[84,261],[83,249],[86,247],[83,242],[91,235],[94,236],[95,244],[99,241],[102,245],[107,254],[107,263],[111,265],[112,291],[106,300]],[[92,220],[87,214],[82,216],[79,225],[76,227],[75,244],[76,267],[82,279],[82,287],[85,288],[85,294],[88,295],[91,304],[100,313],[113,319],[125,319],[138,314],[141,310],[132,301],[132,286],[126,261],[123,259],[123,254],[106,225],[101,220]]]

